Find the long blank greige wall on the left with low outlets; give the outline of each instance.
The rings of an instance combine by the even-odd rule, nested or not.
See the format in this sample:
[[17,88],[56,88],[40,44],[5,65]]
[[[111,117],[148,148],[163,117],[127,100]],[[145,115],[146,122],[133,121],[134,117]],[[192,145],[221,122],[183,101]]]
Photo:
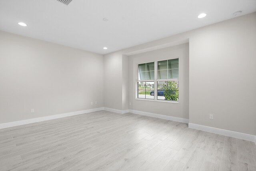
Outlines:
[[0,31],[0,123],[103,107],[102,84],[102,55]]

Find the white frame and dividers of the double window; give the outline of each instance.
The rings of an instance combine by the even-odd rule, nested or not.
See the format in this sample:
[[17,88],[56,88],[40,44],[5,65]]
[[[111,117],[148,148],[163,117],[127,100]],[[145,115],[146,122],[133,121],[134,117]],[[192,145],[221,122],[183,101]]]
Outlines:
[[[176,57],[176,58],[172,58],[172,59],[179,59],[179,71],[180,71],[180,58]],[[172,60],[172,59],[168,59],[168,60]],[[160,60],[160,61],[164,61],[164,60]],[[151,63],[151,62],[145,62],[145,64],[147,63]],[[144,63],[142,63],[144,64]],[[158,61],[154,61],[154,79],[151,80],[139,80],[139,65],[137,64],[137,72],[136,72],[136,92],[135,92],[135,99],[136,100],[146,100],[146,101],[160,101],[160,102],[167,102],[167,103],[179,103],[180,98],[178,101],[172,101],[172,100],[161,100],[161,99],[157,99],[158,95],[156,93],[154,93],[154,99],[147,99],[145,98],[139,98],[138,97],[138,82],[154,82],[154,92],[158,91],[158,82],[165,82],[165,81],[176,81],[179,83],[179,78],[180,78],[180,72],[179,72],[179,78],[167,78],[167,79],[158,79]],[[179,89],[180,91],[180,89]],[[179,96],[180,96],[180,92],[179,92]]]

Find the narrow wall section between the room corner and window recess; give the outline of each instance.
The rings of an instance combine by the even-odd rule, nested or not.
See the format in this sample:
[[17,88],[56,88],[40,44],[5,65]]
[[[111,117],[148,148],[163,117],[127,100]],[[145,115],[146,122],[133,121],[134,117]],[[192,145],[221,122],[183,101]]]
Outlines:
[[128,56],[120,53],[104,56],[104,107],[127,110],[129,104]]

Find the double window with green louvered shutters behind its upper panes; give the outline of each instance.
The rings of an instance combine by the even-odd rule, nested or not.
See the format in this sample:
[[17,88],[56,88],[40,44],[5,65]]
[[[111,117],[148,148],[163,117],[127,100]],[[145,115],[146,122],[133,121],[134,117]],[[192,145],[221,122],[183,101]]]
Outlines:
[[178,58],[158,61],[156,66],[155,62],[138,64],[137,98],[179,101],[178,79]]

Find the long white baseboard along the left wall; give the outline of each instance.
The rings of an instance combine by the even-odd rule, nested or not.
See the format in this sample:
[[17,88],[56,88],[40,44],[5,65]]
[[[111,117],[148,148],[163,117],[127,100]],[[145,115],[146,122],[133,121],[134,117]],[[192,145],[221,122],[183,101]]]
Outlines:
[[104,110],[104,107],[99,107],[99,108],[95,108],[95,109],[88,109],[88,110],[81,110],[81,111],[74,111],[74,112],[69,112],[69,113],[62,113],[62,114],[58,114],[58,115],[50,115],[50,116],[44,116],[44,117],[37,117],[37,118],[26,119],[26,120],[22,120],[22,121],[0,123],[0,129],[8,128],[8,127],[14,127],[14,126],[18,126],[18,125],[25,125],[25,124],[28,124],[28,123],[47,121],[47,120],[57,119],[57,118],[61,118],[61,117],[80,115],[80,114],[90,113],[90,112],[100,111],[100,110]]

